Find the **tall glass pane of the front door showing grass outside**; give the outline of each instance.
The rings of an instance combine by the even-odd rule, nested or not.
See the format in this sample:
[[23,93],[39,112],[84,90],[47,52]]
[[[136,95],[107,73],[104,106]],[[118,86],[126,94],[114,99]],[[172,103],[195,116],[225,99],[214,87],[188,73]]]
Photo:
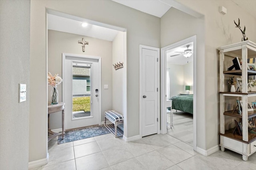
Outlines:
[[73,63],[72,67],[72,119],[91,116],[91,64]]

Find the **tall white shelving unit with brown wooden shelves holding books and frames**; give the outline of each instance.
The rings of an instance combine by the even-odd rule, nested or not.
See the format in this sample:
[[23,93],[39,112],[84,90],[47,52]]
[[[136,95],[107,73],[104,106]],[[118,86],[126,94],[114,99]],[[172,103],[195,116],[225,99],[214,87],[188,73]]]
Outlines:
[[[256,152],[256,134],[248,133],[248,118],[256,117],[256,111],[247,109],[248,98],[256,96],[256,92],[248,92],[247,88],[248,76],[256,75],[256,70],[247,70],[247,59],[256,58],[256,43],[247,40],[219,47],[218,50],[220,51],[220,147],[222,151],[226,148],[242,154],[243,160],[246,161],[248,156]],[[226,71],[231,66],[234,57],[242,59],[242,70]],[[242,78],[242,92],[230,92],[225,76],[226,79],[230,76]],[[227,101],[226,98],[228,98]],[[230,98],[232,99],[230,100]],[[231,102],[233,98],[234,103],[236,103],[236,99],[242,100],[242,115],[236,111],[232,113],[234,109],[226,110],[228,107],[225,107],[225,104]],[[234,105],[236,106],[236,104]],[[241,120],[242,136],[233,133],[234,129],[225,129],[225,116]]]

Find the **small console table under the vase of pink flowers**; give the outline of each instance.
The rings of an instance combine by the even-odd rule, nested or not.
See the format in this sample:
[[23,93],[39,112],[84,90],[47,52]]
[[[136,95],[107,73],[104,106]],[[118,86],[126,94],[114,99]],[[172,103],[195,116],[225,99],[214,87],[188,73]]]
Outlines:
[[[58,135],[64,135],[64,108],[65,108],[65,103],[64,102],[59,102],[58,104],[51,104],[48,103],[48,142],[58,136]],[[62,133],[55,133],[53,131],[51,131],[51,129],[49,128],[49,122],[50,122],[50,114],[51,113],[56,113],[57,111],[62,111]]]

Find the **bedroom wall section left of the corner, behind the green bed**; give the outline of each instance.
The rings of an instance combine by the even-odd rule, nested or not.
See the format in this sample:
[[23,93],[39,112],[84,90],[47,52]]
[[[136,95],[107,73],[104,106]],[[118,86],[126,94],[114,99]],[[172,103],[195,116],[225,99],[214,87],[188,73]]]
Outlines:
[[184,66],[178,64],[166,64],[169,69],[170,98],[184,93]]

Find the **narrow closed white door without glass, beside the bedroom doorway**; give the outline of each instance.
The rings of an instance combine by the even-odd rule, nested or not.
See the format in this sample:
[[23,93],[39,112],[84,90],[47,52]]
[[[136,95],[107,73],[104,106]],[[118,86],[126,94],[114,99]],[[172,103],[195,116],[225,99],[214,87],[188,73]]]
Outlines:
[[142,57],[142,137],[158,133],[159,49],[141,49]]

